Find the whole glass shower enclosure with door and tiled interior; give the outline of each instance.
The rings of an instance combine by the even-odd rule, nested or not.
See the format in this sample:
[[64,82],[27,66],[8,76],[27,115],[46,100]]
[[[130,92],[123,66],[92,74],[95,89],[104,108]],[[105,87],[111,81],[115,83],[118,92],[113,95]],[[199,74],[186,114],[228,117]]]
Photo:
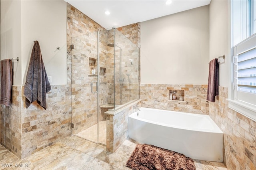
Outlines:
[[139,47],[118,30],[71,39],[72,134],[106,145],[106,115],[139,99]]

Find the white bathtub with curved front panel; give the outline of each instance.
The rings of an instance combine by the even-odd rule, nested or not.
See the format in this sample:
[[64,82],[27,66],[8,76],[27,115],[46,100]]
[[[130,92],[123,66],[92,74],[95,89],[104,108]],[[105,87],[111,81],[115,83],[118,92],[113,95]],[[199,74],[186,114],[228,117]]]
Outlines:
[[129,137],[192,159],[223,161],[223,132],[208,115],[140,108],[128,118]]

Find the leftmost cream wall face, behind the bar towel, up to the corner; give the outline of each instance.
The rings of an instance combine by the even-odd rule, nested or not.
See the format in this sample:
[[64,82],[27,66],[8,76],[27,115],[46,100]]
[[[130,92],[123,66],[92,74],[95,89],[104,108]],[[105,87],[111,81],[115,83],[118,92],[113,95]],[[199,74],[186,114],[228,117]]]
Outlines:
[[[21,1],[1,1],[1,60],[8,58],[21,59]],[[13,61],[13,85],[20,85],[21,62]]]

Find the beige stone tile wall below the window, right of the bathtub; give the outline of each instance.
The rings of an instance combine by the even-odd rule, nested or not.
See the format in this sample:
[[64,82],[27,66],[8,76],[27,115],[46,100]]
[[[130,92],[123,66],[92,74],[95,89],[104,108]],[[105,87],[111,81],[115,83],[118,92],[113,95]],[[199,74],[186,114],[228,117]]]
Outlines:
[[209,115],[224,132],[224,163],[231,170],[256,169],[256,122],[228,108],[228,88],[219,87]]

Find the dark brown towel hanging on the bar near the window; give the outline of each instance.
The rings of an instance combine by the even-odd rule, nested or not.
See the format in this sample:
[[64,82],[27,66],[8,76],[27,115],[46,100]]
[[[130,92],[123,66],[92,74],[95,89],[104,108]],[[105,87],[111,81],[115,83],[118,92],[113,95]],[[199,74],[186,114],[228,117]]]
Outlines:
[[219,95],[218,91],[218,72],[219,63],[218,59],[213,59],[209,64],[209,77],[208,77],[208,89],[207,100],[215,102],[215,96]]

